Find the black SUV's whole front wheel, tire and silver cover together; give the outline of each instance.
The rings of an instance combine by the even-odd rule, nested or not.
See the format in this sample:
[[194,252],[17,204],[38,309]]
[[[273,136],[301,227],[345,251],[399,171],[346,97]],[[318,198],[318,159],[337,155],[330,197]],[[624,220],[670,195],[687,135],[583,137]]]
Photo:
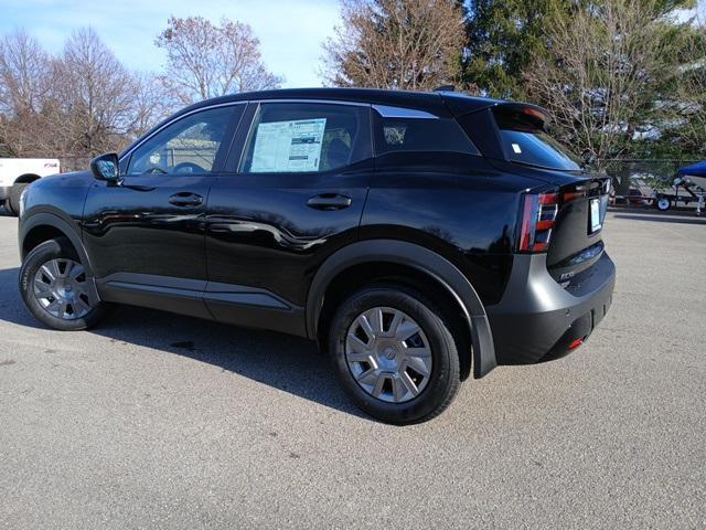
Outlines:
[[[52,276],[58,283],[50,286]],[[68,240],[60,237],[26,255],[20,269],[20,294],[40,322],[61,331],[78,331],[98,324],[106,311],[90,288],[92,279]]]

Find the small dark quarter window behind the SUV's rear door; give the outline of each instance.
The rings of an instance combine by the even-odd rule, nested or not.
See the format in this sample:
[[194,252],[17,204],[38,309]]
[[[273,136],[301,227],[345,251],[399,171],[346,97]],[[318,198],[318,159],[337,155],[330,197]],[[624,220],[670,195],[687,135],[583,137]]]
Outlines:
[[[479,155],[463,129],[452,118],[418,110],[384,107],[373,112],[375,155],[394,151],[450,151]],[[408,116],[406,116],[408,115]]]

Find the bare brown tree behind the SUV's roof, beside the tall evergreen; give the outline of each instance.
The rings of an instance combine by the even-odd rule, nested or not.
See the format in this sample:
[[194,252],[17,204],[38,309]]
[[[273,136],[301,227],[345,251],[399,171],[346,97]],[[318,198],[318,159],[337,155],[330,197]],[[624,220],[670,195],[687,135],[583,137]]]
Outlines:
[[343,24],[324,44],[335,86],[432,89],[457,82],[463,12],[453,0],[344,0]]

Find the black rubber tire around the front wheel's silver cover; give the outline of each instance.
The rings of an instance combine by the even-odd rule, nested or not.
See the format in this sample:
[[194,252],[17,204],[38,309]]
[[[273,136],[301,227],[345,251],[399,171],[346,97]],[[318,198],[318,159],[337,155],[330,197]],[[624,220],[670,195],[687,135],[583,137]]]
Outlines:
[[[20,269],[20,294],[22,295],[24,305],[40,322],[53,329],[78,331],[95,326],[106,312],[106,305],[99,300],[96,300],[94,307],[83,317],[64,319],[50,315],[34,296],[33,282],[36,272],[42,265],[56,258],[68,258],[81,263],[76,251],[68,240],[64,237],[46,241],[38,245],[26,255]],[[86,280],[89,282],[90,278],[87,277]]]

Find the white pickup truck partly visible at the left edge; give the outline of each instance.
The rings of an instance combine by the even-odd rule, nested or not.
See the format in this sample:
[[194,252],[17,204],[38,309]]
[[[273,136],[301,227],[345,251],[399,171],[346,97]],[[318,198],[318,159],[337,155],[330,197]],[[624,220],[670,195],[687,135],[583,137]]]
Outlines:
[[0,158],[0,205],[17,215],[22,190],[35,180],[60,171],[56,158]]

